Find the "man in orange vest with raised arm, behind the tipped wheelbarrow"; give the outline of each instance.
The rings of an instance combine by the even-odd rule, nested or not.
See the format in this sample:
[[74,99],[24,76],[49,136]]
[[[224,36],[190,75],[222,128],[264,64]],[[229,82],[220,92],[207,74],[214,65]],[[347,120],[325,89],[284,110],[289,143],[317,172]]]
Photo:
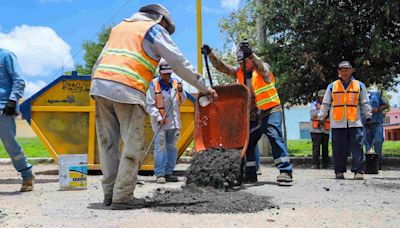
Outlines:
[[256,182],[255,147],[262,134],[265,134],[272,146],[275,166],[280,171],[277,182],[292,182],[292,164],[282,134],[282,105],[275,77],[268,64],[253,53],[245,40],[239,46],[236,60],[239,67],[232,67],[218,59],[208,45],[203,46],[203,53],[210,56],[213,66],[220,72],[229,75],[238,83],[246,85],[251,93],[250,137],[246,151],[247,182]]

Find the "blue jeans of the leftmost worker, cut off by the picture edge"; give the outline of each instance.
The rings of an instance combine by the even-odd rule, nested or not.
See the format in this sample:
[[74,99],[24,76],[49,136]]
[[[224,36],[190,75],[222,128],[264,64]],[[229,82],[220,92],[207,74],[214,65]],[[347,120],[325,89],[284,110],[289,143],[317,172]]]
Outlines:
[[15,139],[15,117],[0,115],[0,139],[11,158],[14,168],[23,179],[32,177],[32,165],[28,163],[24,151]]

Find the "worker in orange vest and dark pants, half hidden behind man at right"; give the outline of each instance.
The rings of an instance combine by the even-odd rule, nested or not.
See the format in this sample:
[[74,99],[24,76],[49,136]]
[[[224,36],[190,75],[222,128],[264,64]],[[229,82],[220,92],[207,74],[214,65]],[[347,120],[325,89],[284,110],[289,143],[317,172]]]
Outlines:
[[320,125],[318,121],[318,113],[321,109],[322,99],[324,98],[326,90],[321,89],[318,91],[317,99],[311,103],[310,116],[311,116],[311,140],[312,140],[312,155],[313,155],[313,169],[320,168],[320,154],[322,146],[322,168],[328,168],[329,164],[329,132],[331,130],[329,117],[327,117],[323,124]]

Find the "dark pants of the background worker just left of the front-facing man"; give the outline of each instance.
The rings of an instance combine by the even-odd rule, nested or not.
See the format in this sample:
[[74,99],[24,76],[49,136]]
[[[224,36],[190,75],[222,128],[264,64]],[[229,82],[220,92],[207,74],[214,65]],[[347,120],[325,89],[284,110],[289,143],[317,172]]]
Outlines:
[[322,146],[322,164],[324,167],[329,164],[329,134],[324,133],[311,133],[311,140],[313,142],[313,165],[319,166],[319,157],[321,154]]

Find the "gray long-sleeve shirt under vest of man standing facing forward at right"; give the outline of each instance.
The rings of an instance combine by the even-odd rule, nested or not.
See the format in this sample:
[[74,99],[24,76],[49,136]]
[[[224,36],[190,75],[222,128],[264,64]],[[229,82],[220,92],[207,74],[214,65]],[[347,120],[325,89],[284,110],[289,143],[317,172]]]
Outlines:
[[[351,80],[354,80],[352,77]],[[345,85],[345,88],[347,86]],[[352,127],[363,127],[361,116],[365,116],[365,118],[371,118],[371,106],[369,104],[369,98],[367,94],[367,89],[365,88],[364,83],[360,82],[360,94],[358,97],[358,105],[357,105],[357,119],[356,121],[348,121],[346,112],[344,113],[344,118],[341,121],[335,121],[332,115],[332,89],[333,82],[328,85],[324,99],[322,101],[321,109],[318,114],[318,120],[323,120],[330,112],[330,120],[331,120],[331,128],[352,128]]]

